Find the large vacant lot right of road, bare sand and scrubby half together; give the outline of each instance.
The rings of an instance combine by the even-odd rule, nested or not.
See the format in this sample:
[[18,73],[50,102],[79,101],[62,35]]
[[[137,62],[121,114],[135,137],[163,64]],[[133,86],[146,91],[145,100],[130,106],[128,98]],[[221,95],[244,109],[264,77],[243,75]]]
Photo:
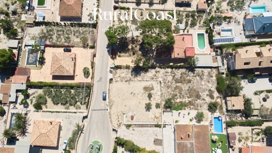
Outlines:
[[[125,122],[130,120],[130,114],[135,114],[132,122],[160,122],[161,110],[156,109],[155,104],[162,101],[163,106],[164,100],[170,97],[174,104],[184,103],[186,108],[183,109],[207,110],[210,101],[219,101],[216,74],[216,69],[114,70],[109,97],[113,126],[118,128],[123,123],[124,113]],[[151,101],[147,98],[148,92],[153,94]],[[146,112],[144,104],[149,101],[153,106]]]

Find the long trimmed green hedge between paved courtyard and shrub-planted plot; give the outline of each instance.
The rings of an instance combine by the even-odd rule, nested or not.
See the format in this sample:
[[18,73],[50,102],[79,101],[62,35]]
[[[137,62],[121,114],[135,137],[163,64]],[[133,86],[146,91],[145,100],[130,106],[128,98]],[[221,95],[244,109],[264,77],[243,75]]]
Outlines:
[[[65,87],[80,87],[80,86],[81,86],[81,83],[27,82],[27,86],[65,86]],[[86,87],[91,87],[91,83],[86,83]]]

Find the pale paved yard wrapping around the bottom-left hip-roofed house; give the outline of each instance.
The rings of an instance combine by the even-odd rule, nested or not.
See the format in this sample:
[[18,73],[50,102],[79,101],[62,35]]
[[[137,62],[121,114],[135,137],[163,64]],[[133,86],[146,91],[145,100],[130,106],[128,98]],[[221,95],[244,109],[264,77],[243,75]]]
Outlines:
[[30,120],[30,126],[28,129],[27,137],[19,138],[20,141],[30,141],[31,134],[33,130],[34,120],[53,120],[60,121],[60,137],[58,140],[57,147],[41,147],[43,153],[58,153],[62,151],[62,145],[64,140],[68,140],[71,136],[72,130],[75,129],[76,123],[81,123],[83,114],[77,113],[39,113],[39,112],[30,112],[28,114]]

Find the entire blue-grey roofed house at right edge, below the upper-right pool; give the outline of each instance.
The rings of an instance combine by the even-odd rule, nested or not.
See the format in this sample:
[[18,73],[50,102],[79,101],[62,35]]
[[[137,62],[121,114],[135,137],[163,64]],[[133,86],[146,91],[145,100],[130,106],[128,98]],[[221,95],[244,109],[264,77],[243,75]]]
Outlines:
[[245,36],[272,34],[272,16],[246,18],[243,28]]

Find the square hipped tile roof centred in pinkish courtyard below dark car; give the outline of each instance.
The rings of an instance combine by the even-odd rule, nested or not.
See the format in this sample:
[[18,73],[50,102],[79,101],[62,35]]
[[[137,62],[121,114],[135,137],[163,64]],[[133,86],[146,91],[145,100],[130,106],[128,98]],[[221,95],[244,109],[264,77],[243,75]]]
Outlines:
[[51,75],[74,75],[75,53],[56,52],[52,53]]

